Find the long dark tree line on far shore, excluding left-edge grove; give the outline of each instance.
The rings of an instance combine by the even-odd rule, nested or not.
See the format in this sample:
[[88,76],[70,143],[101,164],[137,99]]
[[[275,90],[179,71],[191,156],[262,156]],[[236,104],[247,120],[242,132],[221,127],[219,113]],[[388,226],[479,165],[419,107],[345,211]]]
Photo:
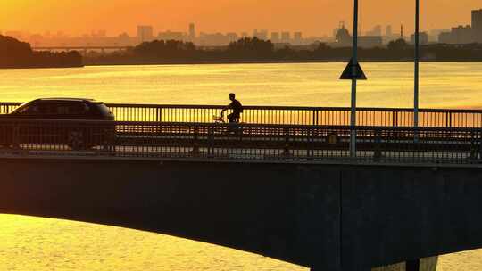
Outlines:
[[[245,37],[228,46],[206,49],[191,42],[155,40],[127,51],[91,53],[87,64],[163,63],[163,62],[339,62],[352,55],[351,47],[330,47],[320,43],[312,46],[275,48],[269,40]],[[413,45],[403,39],[386,47],[360,48],[361,61],[409,62],[413,60]],[[421,61],[482,61],[482,45],[423,45]]]

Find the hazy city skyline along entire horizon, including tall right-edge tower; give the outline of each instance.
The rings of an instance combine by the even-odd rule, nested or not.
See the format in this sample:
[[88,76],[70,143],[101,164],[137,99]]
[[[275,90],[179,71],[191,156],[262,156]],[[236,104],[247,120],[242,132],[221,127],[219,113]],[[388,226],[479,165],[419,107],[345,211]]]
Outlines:
[[[444,44],[470,44],[482,43],[482,9],[471,10],[467,12],[467,18],[470,18],[470,24],[452,26],[450,29],[426,29],[420,31],[420,44],[428,45],[430,43]],[[405,28],[406,29],[406,28]],[[231,42],[237,41],[242,37],[258,37],[263,40],[270,40],[275,45],[313,45],[317,43],[326,43],[334,47],[345,47],[352,44],[352,36],[350,30],[346,27],[345,21],[340,21],[337,28],[332,29],[332,36],[306,37],[302,31],[270,31],[269,29],[253,29],[249,32],[220,32],[212,33],[204,32],[202,29],[198,31],[196,24],[190,22],[185,29],[178,31],[155,29],[153,25],[137,25],[137,31],[134,35],[129,35],[127,31],[123,31],[120,35],[109,36],[104,29],[93,30],[90,34],[80,36],[70,36],[64,32],[52,33],[50,31],[44,34],[29,33],[21,31],[0,31],[5,36],[15,37],[19,40],[29,42],[34,47],[49,46],[133,46],[143,42],[153,40],[178,40],[185,42],[193,42],[195,45],[201,46],[225,46]],[[414,43],[415,35],[404,31],[403,24],[400,24],[400,31],[396,33],[392,25],[375,25],[372,29],[362,31],[359,29],[359,45],[361,47],[372,48],[382,47],[390,41],[403,38]]]

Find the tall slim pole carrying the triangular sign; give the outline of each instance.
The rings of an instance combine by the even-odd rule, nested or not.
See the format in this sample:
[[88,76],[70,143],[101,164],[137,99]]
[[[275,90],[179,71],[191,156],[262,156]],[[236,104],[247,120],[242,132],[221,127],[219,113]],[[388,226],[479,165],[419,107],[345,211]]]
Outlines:
[[[358,0],[354,0],[353,15],[353,65],[352,74],[357,73],[358,65]],[[356,79],[352,78],[352,112],[351,112],[351,136],[350,136],[350,156],[356,157]]]

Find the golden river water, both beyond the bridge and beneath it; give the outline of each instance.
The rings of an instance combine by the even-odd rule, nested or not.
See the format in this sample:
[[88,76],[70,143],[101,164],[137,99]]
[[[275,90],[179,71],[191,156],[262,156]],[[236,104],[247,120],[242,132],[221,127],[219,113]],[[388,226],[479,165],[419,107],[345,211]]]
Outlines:
[[[343,63],[104,66],[0,70],[0,101],[88,97],[107,103],[349,106]],[[358,105],[411,107],[411,63],[364,63]],[[482,108],[482,63],[422,63],[420,107]],[[215,245],[112,226],[0,215],[3,270],[307,270]],[[482,270],[482,250],[441,257],[438,271]]]

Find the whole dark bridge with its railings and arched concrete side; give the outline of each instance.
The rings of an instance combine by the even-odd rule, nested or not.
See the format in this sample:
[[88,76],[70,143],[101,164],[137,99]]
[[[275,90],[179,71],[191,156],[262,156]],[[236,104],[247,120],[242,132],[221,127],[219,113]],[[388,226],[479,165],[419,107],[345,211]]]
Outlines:
[[362,108],[351,127],[348,108],[248,106],[230,125],[212,121],[221,106],[108,106],[115,122],[0,119],[0,211],[312,270],[433,270],[482,248],[482,111],[420,110],[412,127],[410,109]]

